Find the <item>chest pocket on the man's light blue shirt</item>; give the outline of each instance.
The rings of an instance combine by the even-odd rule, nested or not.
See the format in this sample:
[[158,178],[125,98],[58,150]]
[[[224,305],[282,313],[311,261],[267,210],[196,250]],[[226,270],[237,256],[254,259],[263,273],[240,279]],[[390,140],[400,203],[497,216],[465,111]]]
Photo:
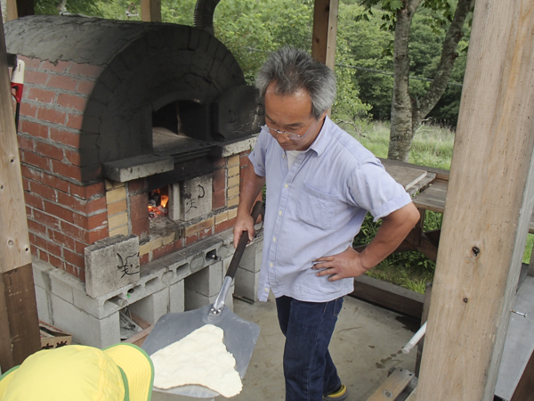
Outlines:
[[296,207],[296,217],[308,225],[329,230],[332,228],[336,195],[314,190],[303,183]]

